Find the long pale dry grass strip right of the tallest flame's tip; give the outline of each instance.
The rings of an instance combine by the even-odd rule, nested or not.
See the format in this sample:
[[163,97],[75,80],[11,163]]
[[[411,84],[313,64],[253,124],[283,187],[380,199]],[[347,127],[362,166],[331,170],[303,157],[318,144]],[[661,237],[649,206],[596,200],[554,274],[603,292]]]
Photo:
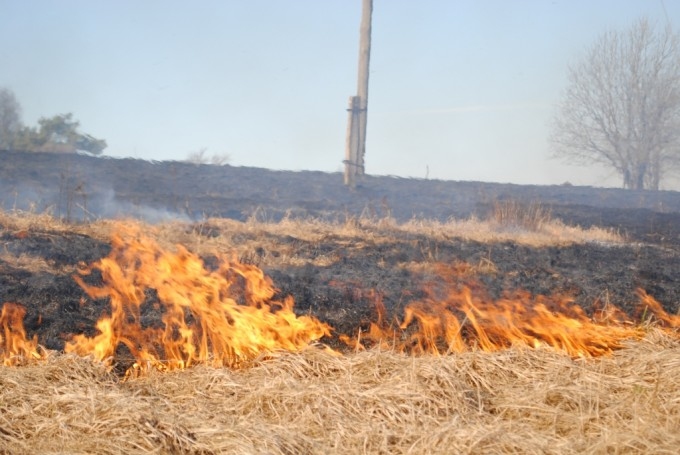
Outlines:
[[[183,226],[183,227],[182,227]],[[507,219],[499,223],[495,219],[480,220],[423,220],[413,219],[398,223],[390,218],[356,219],[345,222],[328,222],[317,219],[283,219],[279,222],[248,221],[245,223],[207,219],[190,225],[166,223],[157,226],[158,237],[170,243],[180,243],[198,254],[229,251],[248,256],[263,246],[267,236],[289,237],[308,243],[323,244],[332,239],[334,243],[361,248],[362,244],[394,241],[395,235],[422,235],[436,241],[463,239],[482,243],[516,242],[533,247],[567,246],[575,243],[599,243],[617,245],[625,240],[611,229],[568,226],[559,219],[544,218],[540,224],[520,226]],[[206,233],[215,232],[214,236]],[[246,234],[246,235],[244,235]],[[264,245],[266,246],[266,245]],[[281,255],[278,264],[300,265],[295,257],[296,245],[277,245]],[[319,257],[315,265],[324,266],[328,258]]]

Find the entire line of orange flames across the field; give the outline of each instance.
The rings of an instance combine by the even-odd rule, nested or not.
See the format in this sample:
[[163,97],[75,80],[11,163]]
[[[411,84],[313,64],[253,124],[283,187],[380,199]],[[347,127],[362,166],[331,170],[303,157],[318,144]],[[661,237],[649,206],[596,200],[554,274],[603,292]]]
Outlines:
[[[90,298],[107,299],[110,312],[99,319],[96,333],[73,336],[65,351],[104,362],[129,356],[127,374],[136,375],[197,363],[239,367],[267,353],[299,351],[330,335],[329,325],[297,316],[291,297],[275,300],[272,281],[261,269],[223,256],[214,262],[208,267],[179,245],[164,250],[138,227],[121,225],[111,253],[74,276]],[[358,350],[380,346],[413,354],[551,347],[591,357],[643,338],[646,328],[640,322],[652,321],[680,336],[680,316],[666,313],[643,290],[638,291],[636,322],[613,305],[588,316],[564,295],[517,291],[494,299],[469,272],[464,264],[438,266],[425,297],[408,304],[399,322],[386,317],[382,295],[369,291],[364,296],[374,302],[374,322],[367,331],[340,340]],[[25,313],[15,303],[2,307],[5,365],[46,357],[37,336],[26,338]]]

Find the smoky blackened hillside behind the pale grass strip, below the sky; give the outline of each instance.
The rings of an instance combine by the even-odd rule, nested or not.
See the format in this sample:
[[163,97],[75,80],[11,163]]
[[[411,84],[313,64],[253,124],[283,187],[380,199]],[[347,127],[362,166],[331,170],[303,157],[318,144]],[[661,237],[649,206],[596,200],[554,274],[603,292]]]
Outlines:
[[0,208],[68,219],[133,215],[148,221],[278,220],[348,216],[484,218],[497,201],[537,202],[568,224],[613,227],[632,238],[680,244],[680,193],[571,185],[513,185],[149,162],[0,151]]

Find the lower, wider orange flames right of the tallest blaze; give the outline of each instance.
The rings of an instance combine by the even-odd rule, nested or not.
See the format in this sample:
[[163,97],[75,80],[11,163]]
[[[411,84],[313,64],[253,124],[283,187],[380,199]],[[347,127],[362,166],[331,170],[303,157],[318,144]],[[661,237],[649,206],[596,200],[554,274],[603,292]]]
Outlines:
[[[516,292],[494,300],[477,284],[454,283],[455,270],[439,268],[437,285],[428,296],[406,306],[398,327],[382,318],[366,333],[342,338],[355,349],[377,345],[402,352],[441,355],[470,349],[497,351],[510,347],[550,346],[573,357],[609,354],[629,339],[641,339],[645,330],[615,306],[589,317],[567,296],[531,296]],[[452,273],[453,272],[453,273]],[[444,290],[444,296],[440,291]],[[474,290],[473,290],[474,289]],[[659,302],[639,290],[641,306],[653,314],[668,333],[677,335],[680,316],[668,315]],[[377,313],[384,305],[377,301]]]

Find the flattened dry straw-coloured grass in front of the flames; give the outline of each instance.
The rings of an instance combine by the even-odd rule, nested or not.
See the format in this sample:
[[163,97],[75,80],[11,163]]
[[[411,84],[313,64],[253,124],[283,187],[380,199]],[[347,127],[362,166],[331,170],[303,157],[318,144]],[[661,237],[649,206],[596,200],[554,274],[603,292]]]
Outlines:
[[654,330],[597,359],[310,348],[127,382],[54,354],[0,368],[0,452],[677,453],[679,376]]

